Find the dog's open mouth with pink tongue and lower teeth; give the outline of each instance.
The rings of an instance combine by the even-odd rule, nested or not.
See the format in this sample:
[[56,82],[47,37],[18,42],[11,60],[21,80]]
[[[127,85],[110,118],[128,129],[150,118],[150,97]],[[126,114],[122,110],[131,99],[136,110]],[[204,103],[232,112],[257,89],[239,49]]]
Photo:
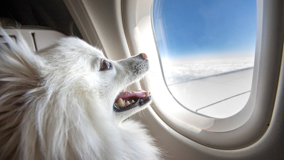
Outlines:
[[142,106],[150,102],[150,94],[150,92],[144,90],[139,90],[138,92],[122,91],[117,96],[115,103],[113,104],[113,110],[116,112],[122,112],[136,106]]

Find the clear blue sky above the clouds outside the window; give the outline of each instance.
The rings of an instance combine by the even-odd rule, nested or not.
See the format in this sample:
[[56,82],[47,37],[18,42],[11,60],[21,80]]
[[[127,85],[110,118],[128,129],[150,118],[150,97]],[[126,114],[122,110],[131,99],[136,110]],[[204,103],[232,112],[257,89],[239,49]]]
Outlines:
[[253,55],[255,0],[156,0],[153,25],[161,57]]

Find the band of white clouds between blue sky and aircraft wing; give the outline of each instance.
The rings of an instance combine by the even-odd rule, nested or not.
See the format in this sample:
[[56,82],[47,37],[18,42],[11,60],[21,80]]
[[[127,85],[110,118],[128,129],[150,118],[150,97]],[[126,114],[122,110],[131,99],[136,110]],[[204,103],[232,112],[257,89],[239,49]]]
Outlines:
[[254,57],[180,60],[167,62],[167,67],[164,64],[165,80],[170,85],[253,67]]

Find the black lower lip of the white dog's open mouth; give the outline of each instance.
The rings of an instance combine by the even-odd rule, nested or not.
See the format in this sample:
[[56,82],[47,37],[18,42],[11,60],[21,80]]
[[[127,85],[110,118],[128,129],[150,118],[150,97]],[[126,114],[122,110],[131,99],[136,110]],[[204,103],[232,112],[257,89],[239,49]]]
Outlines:
[[124,106],[124,107],[118,107],[118,106],[116,106],[115,104],[113,104],[113,110],[114,110],[115,112],[127,111],[127,110],[129,110],[129,109],[131,109],[131,108],[134,108],[134,107],[137,107],[137,106],[142,106],[142,105],[144,105],[144,104],[150,102],[151,99],[152,99],[151,95],[149,95],[148,97],[137,98],[134,103],[129,104],[129,105]]

